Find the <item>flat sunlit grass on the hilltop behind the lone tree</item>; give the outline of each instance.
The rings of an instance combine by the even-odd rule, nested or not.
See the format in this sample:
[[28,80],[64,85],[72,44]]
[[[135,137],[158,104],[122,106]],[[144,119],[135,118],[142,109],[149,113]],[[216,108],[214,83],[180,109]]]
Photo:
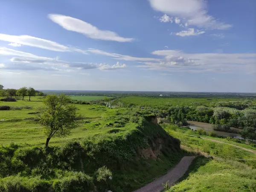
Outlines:
[[[21,109],[21,110],[9,110],[0,111],[0,144],[9,144],[14,142],[17,144],[24,145],[43,145],[45,142],[45,136],[42,131],[42,126],[33,120],[27,118],[37,118],[36,113],[38,108],[43,107],[43,102],[34,102],[39,100],[38,97],[33,97],[32,100],[22,101],[17,100],[17,102],[0,102],[0,105],[9,105],[11,107],[21,107],[30,106],[31,109]],[[108,129],[105,128],[106,122],[103,120],[104,117],[113,115],[115,109],[110,109],[99,105],[76,105],[79,108],[79,113],[84,116],[84,120],[81,122],[79,128],[72,130],[70,136],[65,138],[52,138],[50,141],[53,145],[59,145],[63,142],[72,139],[83,139],[85,137],[90,137],[96,134],[105,134]],[[100,125],[95,126],[94,124],[100,123]],[[130,126],[127,125],[126,130],[129,130]],[[10,132],[12,134],[10,134]]]

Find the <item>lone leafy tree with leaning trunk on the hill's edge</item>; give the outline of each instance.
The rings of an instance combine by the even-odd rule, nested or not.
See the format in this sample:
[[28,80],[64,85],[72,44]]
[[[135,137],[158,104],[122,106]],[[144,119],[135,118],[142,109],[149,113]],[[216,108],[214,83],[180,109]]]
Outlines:
[[70,130],[78,127],[78,108],[70,104],[70,97],[65,95],[47,95],[44,99],[45,108],[40,123],[44,127],[46,135],[45,147],[48,147],[52,137],[65,137]]

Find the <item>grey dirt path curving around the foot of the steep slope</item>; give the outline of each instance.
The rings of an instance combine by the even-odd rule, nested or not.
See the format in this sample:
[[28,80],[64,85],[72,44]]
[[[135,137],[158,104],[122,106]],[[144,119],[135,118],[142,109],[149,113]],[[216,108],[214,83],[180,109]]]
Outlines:
[[162,183],[166,183],[169,180],[169,185],[173,185],[180,177],[182,177],[189,168],[190,163],[195,156],[185,156],[180,162],[170,170],[166,175],[157,178],[152,183],[148,183],[143,188],[137,189],[134,192],[160,192],[163,190]]

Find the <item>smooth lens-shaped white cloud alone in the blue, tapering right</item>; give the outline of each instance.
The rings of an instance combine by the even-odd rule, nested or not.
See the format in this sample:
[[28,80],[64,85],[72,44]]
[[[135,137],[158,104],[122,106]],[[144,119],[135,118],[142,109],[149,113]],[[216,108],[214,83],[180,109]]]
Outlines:
[[89,38],[118,42],[131,42],[134,40],[134,38],[120,37],[118,34],[112,31],[100,30],[90,23],[73,17],[57,14],[49,14],[48,17],[50,20],[62,26],[64,29],[84,34]]

